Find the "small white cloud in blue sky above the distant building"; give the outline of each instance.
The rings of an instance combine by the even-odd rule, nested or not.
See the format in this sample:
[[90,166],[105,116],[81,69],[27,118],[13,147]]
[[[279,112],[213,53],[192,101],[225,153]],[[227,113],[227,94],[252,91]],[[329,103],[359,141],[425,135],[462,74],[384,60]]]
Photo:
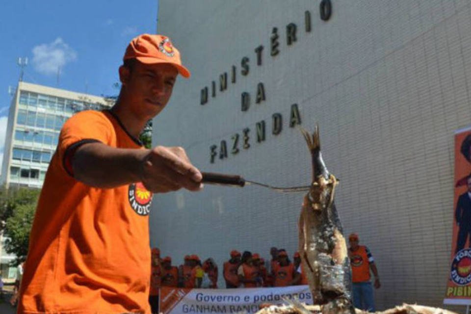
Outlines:
[[62,38],[57,37],[50,44],[41,44],[33,48],[33,66],[36,71],[46,75],[57,74],[62,68],[77,59],[77,53]]

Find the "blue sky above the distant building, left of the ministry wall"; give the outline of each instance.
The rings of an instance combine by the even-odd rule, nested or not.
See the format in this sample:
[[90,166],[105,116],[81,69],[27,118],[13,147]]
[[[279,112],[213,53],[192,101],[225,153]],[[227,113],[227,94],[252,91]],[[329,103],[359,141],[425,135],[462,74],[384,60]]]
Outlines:
[[[155,33],[158,0],[10,0],[0,14],[0,154],[11,96],[23,80],[94,95],[114,95],[113,83],[132,37]],[[131,4],[132,3],[132,4]],[[57,69],[60,68],[57,82]]]

